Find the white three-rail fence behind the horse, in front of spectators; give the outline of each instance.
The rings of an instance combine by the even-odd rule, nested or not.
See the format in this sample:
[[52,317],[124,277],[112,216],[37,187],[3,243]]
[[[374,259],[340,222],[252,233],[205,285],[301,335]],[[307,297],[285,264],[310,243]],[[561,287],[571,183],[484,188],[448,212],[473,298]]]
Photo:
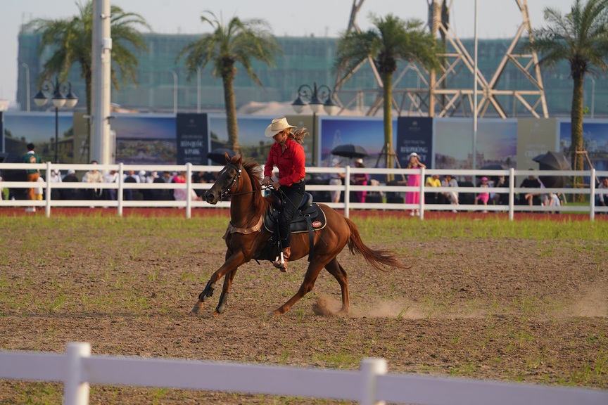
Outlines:
[[[64,172],[68,169],[75,169],[80,172],[86,172],[87,170],[94,167],[95,169],[103,172],[110,169],[118,170],[118,182],[117,183],[52,183],[46,181],[44,183],[37,184],[37,187],[44,187],[46,191],[46,200],[42,201],[28,201],[28,200],[0,200],[0,207],[44,207],[46,216],[50,217],[51,208],[53,207],[109,207],[115,208],[117,214],[122,216],[122,210],[125,207],[182,207],[185,208],[184,214],[186,218],[191,217],[192,208],[198,207],[229,207],[229,203],[224,201],[217,205],[209,205],[204,201],[162,201],[162,200],[123,200],[122,191],[131,188],[134,190],[175,190],[176,188],[184,188],[187,193],[192,190],[205,190],[211,187],[211,184],[200,184],[193,183],[191,181],[191,174],[194,172],[218,172],[220,166],[194,166],[191,164],[186,165],[65,165],[65,164],[52,164],[50,162],[41,163],[37,165],[25,164],[25,163],[0,163],[0,172],[6,169],[40,169],[45,170],[47,173],[51,169],[60,169]],[[167,184],[148,184],[148,183],[125,183],[122,181],[124,173],[129,170],[145,170],[150,171],[170,171],[170,172],[186,172],[186,183],[167,183]],[[327,203],[332,208],[344,210],[346,217],[349,216],[351,210],[419,210],[420,218],[424,219],[424,212],[428,210],[457,210],[457,211],[488,211],[488,212],[508,212],[509,219],[514,219],[516,212],[588,212],[589,219],[593,221],[597,212],[608,213],[608,207],[596,207],[595,206],[595,195],[605,192],[595,187],[595,181],[590,181],[590,184],[585,188],[519,188],[516,186],[516,179],[519,176],[520,179],[533,174],[534,176],[581,176],[588,179],[597,179],[608,176],[608,171],[596,171],[591,169],[588,171],[572,171],[572,170],[559,170],[559,171],[545,171],[545,170],[449,170],[449,169],[382,169],[382,168],[356,168],[356,167],[307,167],[308,174],[312,175],[327,175],[331,173],[342,172],[345,174],[346,179],[350,179],[351,174],[355,173],[367,173],[372,176],[386,176],[386,174],[393,174],[395,179],[402,179],[409,174],[421,174],[421,178],[425,179],[426,176],[432,176],[438,174],[443,176],[445,174],[452,174],[453,176],[470,176],[472,178],[479,178],[481,176],[505,176],[508,187],[493,187],[493,188],[479,188],[479,187],[458,187],[458,193],[502,193],[508,194],[509,204],[508,205],[449,205],[449,204],[425,204],[424,199],[420,199],[419,204],[404,204],[404,203],[353,203],[350,201],[350,191],[367,191],[377,193],[406,193],[406,192],[448,192],[455,191],[453,188],[447,187],[435,187],[429,188],[424,186],[424,181],[421,181],[419,187],[397,185],[391,186],[386,184],[380,184],[379,186],[355,186],[346,184],[343,186],[330,186],[328,184],[307,184],[307,191],[332,191],[339,190],[343,192],[344,202],[343,203]],[[520,180],[521,181],[521,180]],[[30,188],[31,183],[27,181],[3,181],[0,183],[0,187],[14,187],[14,188]],[[61,188],[75,188],[75,189],[91,189],[91,188],[114,188],[118,191],[118,200],[52,200],[51,191],[54,189]],[[572,194],[584,194],[589,195],[589,205],[562,205],[559,207],[548,207],[539,205],[516,205],[515,196],[517,193],[562,193],[564,195]]]

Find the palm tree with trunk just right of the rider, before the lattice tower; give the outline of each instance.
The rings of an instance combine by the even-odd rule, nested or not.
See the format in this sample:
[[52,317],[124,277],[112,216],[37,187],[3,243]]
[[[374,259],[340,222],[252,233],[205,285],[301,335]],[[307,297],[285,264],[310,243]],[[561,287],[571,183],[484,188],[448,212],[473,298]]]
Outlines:
[[422,20],[401,20],[389,14],[385,18],[371,15],[374,25],[366,32],[350,30],[338,40],[336,65],[352,72],[367,58],[378,70],[384,97],[384,145],[386,167],[393,167],[393,72],[399,61],[417,62],[432,70],[441,67],[438,44]]

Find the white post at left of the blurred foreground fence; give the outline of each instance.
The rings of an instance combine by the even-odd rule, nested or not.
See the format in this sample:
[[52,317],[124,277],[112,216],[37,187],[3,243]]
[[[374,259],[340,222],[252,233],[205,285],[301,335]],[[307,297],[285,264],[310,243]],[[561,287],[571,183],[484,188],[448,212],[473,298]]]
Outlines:
[[91,356],[89,343],[68,343],[65,350],[63,405],[88,405],[89,383],[85,380],[82,358]]

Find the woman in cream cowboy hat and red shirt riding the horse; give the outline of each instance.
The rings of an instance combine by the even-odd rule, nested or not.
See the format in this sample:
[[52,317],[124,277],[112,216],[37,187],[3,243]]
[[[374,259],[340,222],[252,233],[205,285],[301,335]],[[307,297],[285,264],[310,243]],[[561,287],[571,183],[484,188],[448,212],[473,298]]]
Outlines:
[[[291,129],[296,128],[287,122],[285,117],[275,118],[272,123],[266,128],[265,136],[274,139],[274,143],[270,147],[268,160],[264,167],[264,179],[262,184],[270,186],[274,190],[281,191],[284,200],[283,210],[279,217],[278,233],[281,238],[281,248],[283,257],[277,257],[277,260],[272,264],[287,271],[287,260],[291,255],[291,230],[289,224],[293,216],[298,212],[298,205],[302,202],[305,192],[304,176],[305,170],[305,154],[303,143],[304,136],[308,134],[305,128],[292,132]],[[271,179],[272,169],[279,169],[279,178]]]

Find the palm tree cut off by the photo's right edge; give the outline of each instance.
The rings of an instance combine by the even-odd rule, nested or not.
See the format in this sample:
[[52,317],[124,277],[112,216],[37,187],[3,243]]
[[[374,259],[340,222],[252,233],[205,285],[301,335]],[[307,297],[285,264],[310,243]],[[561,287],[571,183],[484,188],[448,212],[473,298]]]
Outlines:
[[[574,80],[571,108],[572,168],[583,170],[583,80],[595,75],[593,67],[608,69],[608,0],[576,0],[570,13],[562,15],[555,8],[545,8],[549,25],[532,30],[526,49],[540,54],[540,65],[554,67],[562,60],[570,65]],[[581,155],[579,157],[579,155]]]

